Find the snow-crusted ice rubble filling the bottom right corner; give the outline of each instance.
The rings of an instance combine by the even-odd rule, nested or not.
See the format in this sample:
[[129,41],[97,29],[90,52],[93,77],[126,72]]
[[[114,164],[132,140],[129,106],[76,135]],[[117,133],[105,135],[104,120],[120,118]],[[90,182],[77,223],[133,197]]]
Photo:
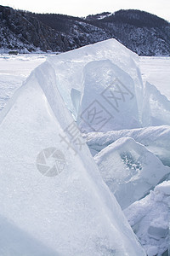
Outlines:
[[165,181],[124,210],[147,255],[161,255],[169,247],[169,208],[170,181]]

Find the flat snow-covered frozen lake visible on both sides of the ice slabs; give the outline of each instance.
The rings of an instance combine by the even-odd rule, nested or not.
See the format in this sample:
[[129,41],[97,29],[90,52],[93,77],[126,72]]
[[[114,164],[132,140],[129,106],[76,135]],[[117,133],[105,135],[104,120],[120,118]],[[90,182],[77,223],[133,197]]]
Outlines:
[[[0,110],[31,71],[49,55],[0,55]],[[170,57],[139,57],[144,81],[156,85],[170,100]]]

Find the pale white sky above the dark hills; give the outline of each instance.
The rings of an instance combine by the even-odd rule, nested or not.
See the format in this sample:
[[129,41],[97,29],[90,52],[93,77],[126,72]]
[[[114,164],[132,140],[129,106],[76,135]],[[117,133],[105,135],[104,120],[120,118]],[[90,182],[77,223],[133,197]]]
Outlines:
[[0,0],[0,5],[80,17],[119,9],[141,9],[170,21],[170,0]]

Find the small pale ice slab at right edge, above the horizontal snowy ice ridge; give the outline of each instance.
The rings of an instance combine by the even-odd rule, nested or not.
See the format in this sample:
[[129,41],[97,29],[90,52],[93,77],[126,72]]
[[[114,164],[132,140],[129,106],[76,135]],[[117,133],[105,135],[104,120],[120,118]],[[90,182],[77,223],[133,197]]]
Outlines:
[[153,84],[144,86],[143,126],[170,125],[170,101]]

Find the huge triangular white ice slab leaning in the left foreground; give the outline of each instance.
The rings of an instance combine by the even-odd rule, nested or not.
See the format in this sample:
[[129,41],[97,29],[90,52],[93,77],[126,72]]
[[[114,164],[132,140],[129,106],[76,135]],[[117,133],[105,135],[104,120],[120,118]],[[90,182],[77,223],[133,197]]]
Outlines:
[[48,59],[0,115],[0,254],[145,255],[56,83]]

